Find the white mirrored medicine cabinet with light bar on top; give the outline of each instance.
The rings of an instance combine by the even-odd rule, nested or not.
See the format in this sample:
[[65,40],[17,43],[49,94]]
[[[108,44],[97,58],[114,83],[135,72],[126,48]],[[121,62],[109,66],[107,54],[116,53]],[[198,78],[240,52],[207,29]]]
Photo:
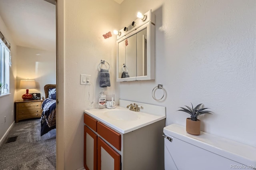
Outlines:
[[155,24],[151,10],[117,35],[117,81],[155,79]]

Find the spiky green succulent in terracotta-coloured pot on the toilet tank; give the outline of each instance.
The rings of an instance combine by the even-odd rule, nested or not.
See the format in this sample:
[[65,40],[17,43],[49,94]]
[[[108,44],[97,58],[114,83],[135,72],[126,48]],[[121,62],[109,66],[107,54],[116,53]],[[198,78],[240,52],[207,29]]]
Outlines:
[[[191,103],[191,105],[192,105],[192,103]],[[184,107],[180,107],[181,109],[178,110],[178,111],[183,111],[183,112],[190,114],[191,117],[186,119],[186,131],[190,134],[195,134],[195,135],[200,134],[201,121],[199,119],[197,119],[197,117],[199,115],[206,114],[206,113],[209,113],[209,114],[213,113],[212,111],[205,110],[205,109],[209,109],[209,108],[200,108],[201,106],[202,106],[202,103],[197,105],[196,107],[193,107],[193,105],[192,105],[192,108],[186,106],[187,109]]]

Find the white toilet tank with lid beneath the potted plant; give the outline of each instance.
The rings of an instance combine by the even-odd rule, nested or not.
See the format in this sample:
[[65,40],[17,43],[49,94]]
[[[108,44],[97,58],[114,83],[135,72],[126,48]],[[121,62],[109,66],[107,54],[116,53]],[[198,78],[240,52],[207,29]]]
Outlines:
[[256,170],[256,148],[206,132],[192,135],[186,127],[164,127],[165,170]]

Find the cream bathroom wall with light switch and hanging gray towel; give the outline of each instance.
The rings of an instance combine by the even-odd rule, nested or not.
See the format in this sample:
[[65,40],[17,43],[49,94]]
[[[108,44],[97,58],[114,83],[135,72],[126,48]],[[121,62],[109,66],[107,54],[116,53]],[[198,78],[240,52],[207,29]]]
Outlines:
[[57,119],[63,120],[64,124],[59,121],[57,125],[57,156],[60,156],[57,157],[57,166],[76,170],[84,166],[83,112],[96,107],[89,105],[89,86],[80,85],[80,74],[92,76],[90,101],[96,102],[100,93],[98,65],[101,59],[106,60],[111,74],[111,87],[107,87],[106,91],[108,94],[114,91],[116,36],[104,39],[102,35],[118,26],[120,5],[113,0],[66,0],[64,4],[58,2],[58,5],[60,115]]

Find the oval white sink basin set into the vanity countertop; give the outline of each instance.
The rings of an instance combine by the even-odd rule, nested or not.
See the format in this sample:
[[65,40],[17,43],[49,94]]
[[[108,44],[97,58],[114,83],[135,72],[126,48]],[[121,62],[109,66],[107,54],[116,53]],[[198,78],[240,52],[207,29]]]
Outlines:
[[118,121],[136,121],[140,119],[140,115],[134,111],[106,111],[105,112],[106,117],[115,119]]

